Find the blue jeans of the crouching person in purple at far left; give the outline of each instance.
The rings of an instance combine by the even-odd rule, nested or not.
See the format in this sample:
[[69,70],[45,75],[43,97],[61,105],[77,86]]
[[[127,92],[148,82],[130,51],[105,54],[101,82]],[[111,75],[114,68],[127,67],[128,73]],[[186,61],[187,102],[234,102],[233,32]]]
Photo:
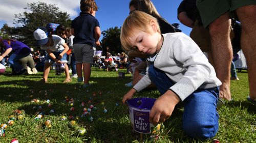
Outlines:
[[22,67],[22,65],[19,64],[18,60],[28,56],[29,54],[30,53],[26,53],[26,54],[16,54],[16,53],[13,53],[9,57],[8,63],[14,68],[15,71],[22,70],[23,67]]

